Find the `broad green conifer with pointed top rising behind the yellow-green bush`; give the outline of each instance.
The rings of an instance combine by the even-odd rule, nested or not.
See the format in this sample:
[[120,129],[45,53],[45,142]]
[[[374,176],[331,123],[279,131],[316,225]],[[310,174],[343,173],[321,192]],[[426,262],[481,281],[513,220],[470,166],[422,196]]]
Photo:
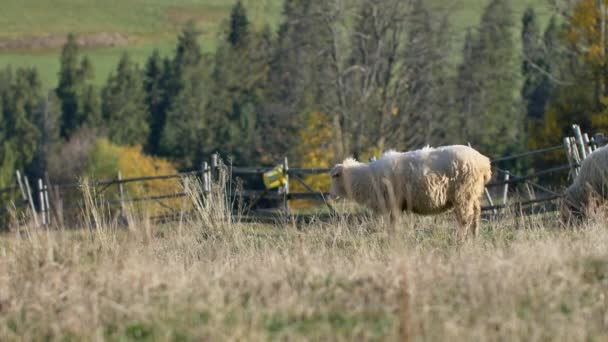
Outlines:
[[145,96],[141,72],[125,53],[102,91],[102,115],[110,141],[132,146],[146,142],[150,128]]

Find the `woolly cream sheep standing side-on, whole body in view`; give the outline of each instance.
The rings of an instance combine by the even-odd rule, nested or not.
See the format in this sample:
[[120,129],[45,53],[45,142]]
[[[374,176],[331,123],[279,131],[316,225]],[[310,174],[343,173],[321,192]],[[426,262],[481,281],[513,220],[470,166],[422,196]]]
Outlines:
[[454,210],[461,238],[477,235],[481,196],[492,177],[490,160],[475,149],[452,145],[386,152],[369,164],[352,158],[330,171],[331,198],[346,198],[388,215],[402,211],[436,215]]

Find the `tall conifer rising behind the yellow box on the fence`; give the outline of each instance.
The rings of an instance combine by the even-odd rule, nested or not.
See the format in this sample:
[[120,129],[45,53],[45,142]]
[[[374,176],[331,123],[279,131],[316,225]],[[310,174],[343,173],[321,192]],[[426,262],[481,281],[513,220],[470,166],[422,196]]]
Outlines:
[[330,6],[321,0],[283,2],[284,20],[269,63],[271,86],[258,118],[261,130],[274,132],[272,138],[261,142],[260,150],[268,160],[292,154],[305,113],[332,101],[334,93],[327,89],[327,76],[333,70],[331,31],[320,15],[328,13]]

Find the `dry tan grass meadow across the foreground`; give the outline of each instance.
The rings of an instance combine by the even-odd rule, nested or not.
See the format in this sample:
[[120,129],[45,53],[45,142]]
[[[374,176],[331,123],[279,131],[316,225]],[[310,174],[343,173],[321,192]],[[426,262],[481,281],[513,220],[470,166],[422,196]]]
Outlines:
[[374,220],[234,223],[214,198],[191,221],[124,229],[92,202],[87,229],[0,237],[3,340],[608,338],[605,218],[506,218],[459,245],[449,217],[387,238]]

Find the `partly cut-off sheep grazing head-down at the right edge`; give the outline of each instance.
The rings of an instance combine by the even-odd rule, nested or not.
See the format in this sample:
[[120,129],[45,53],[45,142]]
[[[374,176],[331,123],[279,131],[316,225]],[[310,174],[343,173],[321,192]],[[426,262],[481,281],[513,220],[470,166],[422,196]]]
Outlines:
[[591,153],[561,201],[561,217],[566,224],[587,216],[600,202],[608,200],[608,146]]

